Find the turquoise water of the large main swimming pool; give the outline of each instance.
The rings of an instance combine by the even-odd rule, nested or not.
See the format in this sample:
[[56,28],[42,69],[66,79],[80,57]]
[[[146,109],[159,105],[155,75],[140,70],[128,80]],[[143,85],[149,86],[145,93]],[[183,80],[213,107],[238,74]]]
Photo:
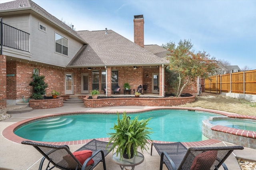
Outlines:
[[[157,110],[139,114],[127,114],[134,119],[152,117],[148,127],[154,132],[152,140],[172,142],[202,141],[202,120],[215,114],[187,110]],[[121,113],[120,113],[121,116]],[[116,123],[117,115],[79,114],[35,121],[17,129],[14,133],[34,141],[60,142],[108,137]]]

